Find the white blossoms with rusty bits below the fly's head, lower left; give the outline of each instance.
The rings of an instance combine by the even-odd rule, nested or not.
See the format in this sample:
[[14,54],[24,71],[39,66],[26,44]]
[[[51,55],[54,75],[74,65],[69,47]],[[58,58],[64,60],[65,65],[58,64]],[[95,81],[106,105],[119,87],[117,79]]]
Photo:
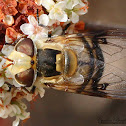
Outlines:
[[10,88],[7,84],[0,87],[0,117],[16,116],[13,126],[18,126],[20,120],[30,118],[30,113],[26,112],[27,106],[22,100],[32,101],[38,94],[42,98],[44,89],[41,85],[36,85],[35,93],[30,94],[24,89]]

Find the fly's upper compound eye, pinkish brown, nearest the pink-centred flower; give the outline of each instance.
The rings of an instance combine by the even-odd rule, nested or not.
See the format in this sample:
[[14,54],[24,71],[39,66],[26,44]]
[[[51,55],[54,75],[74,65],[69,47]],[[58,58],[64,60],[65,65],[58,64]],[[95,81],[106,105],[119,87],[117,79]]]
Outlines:
[[17,43],[15,50],[18,52],[25,53],[28,56],[33,57],[34,55],[34,44],[30,38],[24,38],[22,41]]

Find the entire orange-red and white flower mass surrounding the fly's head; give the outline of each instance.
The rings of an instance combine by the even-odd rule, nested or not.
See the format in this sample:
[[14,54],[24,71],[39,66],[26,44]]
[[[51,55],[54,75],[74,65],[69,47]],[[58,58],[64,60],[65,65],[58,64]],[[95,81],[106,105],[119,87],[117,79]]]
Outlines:
[[79,16],[87,11],[87,0],[0,0],[0,117],[15,116],[13,126],[17,126],[30,117],[23,99],[33,101],[45,92],[40,83],[35,83],[35,91],[30,92],[33,86],[22,88],[13,79],[6,65],[13,43],[24,35],[35,42],[49,34],[77,33],[84,29]]

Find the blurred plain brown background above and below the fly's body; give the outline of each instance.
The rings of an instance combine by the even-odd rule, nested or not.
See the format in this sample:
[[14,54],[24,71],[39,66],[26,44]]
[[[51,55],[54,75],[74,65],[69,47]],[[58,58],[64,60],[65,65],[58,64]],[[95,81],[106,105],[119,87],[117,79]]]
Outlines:
[[[126,0],[88,0],[89,12],[81,20],[126,28]],[[97,98],[47,89],[29,107],[24,126],[126,126],[126,101]],[[112,121],[111,121],[112,120]],[[110,121],[110,122],[109,122]],[[124,123],[124,124],[123,124]],[[1,124],[0,124],[1,125]],[[11,126],[10,123],[2,126]],[[21,124],[20,124],[21,125]]]

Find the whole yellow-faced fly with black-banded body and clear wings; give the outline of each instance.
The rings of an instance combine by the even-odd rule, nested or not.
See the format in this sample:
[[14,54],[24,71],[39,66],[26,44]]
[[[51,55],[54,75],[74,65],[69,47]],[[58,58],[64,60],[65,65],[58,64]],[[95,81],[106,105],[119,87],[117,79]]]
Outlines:
[[34,42],[20,38],[8,56],[15,81],[105,98],[126,96],[123,30],[90,30]]

